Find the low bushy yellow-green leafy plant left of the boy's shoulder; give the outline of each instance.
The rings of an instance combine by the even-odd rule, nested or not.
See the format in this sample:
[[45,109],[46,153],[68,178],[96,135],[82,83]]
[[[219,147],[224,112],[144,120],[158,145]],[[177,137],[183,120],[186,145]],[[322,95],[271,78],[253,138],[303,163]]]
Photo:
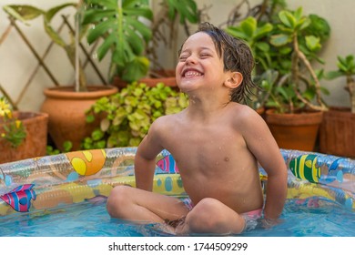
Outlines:
[[188,106],[188,98],[163,83],[148,87],[133,83],[111,97],[97,100],[87,112],[87,121],[103,114],[82,148],[113,148],[137,146],[147,135],[151,123],[160,116],[173,114]]

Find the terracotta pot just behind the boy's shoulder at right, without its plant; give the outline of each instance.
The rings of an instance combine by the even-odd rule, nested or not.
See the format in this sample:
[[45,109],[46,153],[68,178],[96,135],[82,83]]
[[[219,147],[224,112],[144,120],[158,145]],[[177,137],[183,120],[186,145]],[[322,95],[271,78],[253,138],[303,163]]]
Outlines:
[[323,112],[276,114],[266,111],[266,122],[279,148],[312,151],[315,148]]

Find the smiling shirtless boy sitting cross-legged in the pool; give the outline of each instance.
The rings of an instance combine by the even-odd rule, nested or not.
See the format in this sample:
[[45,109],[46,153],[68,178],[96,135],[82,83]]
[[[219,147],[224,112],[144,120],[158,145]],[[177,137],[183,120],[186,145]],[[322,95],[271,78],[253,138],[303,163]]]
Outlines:
[[[240,233],[261,217],[259,162],[268,173],[264,218],[279,218],[287,192],[285,162],[262,117],[238,103],[254,86],[253,66],[249,47],[215,26],[201,24],[188,37],[176,76],[189,105],[152,124],[137,148],[137,189],[112,190],[111,217],[167,223],[177,234]],[[151,192],[156,157],[164,148],[177,162],[190,203]]]

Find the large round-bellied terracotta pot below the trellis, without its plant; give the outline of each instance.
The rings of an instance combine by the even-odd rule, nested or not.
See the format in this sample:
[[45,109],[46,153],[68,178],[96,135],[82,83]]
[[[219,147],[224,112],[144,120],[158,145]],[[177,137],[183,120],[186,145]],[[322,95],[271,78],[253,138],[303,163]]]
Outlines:
[[90,86],[88,89],[88,92],[75,92],[73,87],[53,87],[44,91],[46,100],[41,111],[49,115],[48,132],[56,148],[63,150],[64,142],[71,141],[72,150],[80,149],[83,139],[91,135],[100,121],[86,123],[86,110],[100,97],[117,93],[117,87]]

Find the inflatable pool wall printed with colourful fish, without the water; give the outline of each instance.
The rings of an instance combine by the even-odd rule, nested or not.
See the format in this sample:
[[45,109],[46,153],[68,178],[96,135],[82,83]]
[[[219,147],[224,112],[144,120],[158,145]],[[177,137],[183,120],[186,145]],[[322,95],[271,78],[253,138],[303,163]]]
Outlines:
[[[0,219],[36,217],[99,198],[117,185],[135,186],[137,148],[106,148],[30,158],[0,165]],[[314,152],[281,149],[289,168],[288,199],[314,203],[313,197],[355,211],[355,161]],[[259,169],[263,187],[268,177]],[[186,197],[174,158],[157,157],[154,191]],[[34,213],[35,212],[35,213]],[[13,218],[13,217],[12,217]]]

